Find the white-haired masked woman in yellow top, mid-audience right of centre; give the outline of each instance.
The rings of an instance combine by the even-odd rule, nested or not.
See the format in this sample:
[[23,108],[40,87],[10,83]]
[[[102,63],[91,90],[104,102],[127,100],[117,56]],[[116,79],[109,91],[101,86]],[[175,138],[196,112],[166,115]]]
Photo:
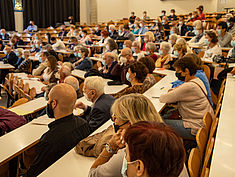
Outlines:
[[157,59],[155,63],[155,67],[157,68],[170,68],[169,62],[172,61],[171,55],[171,44],[169,42],[162,42],[160,44],[159,54],[160,57]]

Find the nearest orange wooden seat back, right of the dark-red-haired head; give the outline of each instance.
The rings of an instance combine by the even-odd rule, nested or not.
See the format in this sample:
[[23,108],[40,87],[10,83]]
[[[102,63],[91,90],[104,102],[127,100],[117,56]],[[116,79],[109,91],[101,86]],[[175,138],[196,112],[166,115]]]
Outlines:
[[201,156],[197,148],[193,148],[188,159],[188,170],[191,177],[198,177],[201,169]]

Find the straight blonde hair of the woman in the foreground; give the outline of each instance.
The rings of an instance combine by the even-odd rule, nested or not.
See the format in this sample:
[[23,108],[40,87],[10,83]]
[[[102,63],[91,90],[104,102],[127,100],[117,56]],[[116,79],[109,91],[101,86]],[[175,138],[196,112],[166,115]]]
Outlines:
[[111,113],[131,124],[140,121],[163,122],[153,103],[144,95],[132,93],[124,95],[113,103]]

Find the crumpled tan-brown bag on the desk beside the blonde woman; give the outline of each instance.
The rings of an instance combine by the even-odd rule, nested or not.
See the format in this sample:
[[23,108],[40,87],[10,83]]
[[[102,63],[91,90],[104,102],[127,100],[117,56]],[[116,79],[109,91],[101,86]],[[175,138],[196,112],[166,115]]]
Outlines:
[[88,136],[80,141],[75,146],[75,151],[76,153],[87,157],[98,157],[105,144],[109,142],[114,133],[113,126],[110,125],[106,130],[93,136]]

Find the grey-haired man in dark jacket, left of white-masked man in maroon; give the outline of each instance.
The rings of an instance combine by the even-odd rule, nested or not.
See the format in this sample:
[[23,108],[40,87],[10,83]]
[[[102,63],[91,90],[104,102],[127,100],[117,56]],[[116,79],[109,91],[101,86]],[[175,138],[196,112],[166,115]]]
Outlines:
[[97,66],[99,67],[98,70],[101,72],[101,76],[106,79],[112,79],[115,80],[115,76],[111,75],[111,71],[113,70],[114,66],[117,64],[117,55],[108,52],[104,54],[102,64],[104,65],[102,67],[101,62],[97,62]]

